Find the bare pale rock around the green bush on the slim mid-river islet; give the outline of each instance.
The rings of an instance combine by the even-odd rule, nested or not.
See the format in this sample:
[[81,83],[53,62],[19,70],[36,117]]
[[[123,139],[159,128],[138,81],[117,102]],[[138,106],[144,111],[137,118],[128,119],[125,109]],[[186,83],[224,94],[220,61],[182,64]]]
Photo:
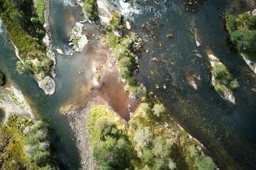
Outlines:
[[[215,64],[223,64],[214,55],[208,55],[208,57],[210,60],[210,66],[212,68],[215,66]],[[217,81],[218,80],[212,74],[211,83],[213,84],[213,86],[215,86],[217,84]],[[228,89],[223,84],[221,85],[221,87],[222,87],[222,91],[218,91],[218,94],[220,94],[221,98],[223,98],[225,101],[229,101],[230,103],[233,103],[235,105],[235,96],[233,95],[233,91],[231,89]]]

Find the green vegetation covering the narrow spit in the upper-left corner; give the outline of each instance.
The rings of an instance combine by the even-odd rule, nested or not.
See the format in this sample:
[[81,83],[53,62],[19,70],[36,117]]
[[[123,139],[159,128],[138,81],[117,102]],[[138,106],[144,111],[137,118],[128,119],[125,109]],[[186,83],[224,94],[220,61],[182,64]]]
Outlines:
[[53,61],[46,56],[46,47],[42,42],[45,35],[43,11],[43,0],[36,1],[35,8],[32,0],[0,1],[1,20],[22,60],[17,69],[21,73],[26,70],[39,80],[50,74],[53,65]]

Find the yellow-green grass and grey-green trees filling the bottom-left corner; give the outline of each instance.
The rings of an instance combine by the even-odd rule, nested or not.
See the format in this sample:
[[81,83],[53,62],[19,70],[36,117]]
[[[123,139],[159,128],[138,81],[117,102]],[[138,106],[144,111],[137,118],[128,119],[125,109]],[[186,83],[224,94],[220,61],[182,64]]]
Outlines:
[[0,169],[55,169],[46,124],[12,114],[0,124]]

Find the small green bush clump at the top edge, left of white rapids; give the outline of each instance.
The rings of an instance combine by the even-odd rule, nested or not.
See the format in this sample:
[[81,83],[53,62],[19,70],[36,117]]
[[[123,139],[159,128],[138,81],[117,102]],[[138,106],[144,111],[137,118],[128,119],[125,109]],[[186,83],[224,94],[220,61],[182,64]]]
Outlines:
[[85,18],[92,21],[97,21],[99,18],[97,7],[97,0],[85,0],[85,4],[82,6],[82,12]]

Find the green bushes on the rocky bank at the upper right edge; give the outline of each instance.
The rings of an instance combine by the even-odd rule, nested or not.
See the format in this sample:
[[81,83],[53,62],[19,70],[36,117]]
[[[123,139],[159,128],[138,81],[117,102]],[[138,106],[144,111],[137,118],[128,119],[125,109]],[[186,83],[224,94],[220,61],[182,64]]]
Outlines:
[[243,13],[237,18],[227,15],[226,28],[235,47],[256,62],[256,16],[250,16],[250,13]]

